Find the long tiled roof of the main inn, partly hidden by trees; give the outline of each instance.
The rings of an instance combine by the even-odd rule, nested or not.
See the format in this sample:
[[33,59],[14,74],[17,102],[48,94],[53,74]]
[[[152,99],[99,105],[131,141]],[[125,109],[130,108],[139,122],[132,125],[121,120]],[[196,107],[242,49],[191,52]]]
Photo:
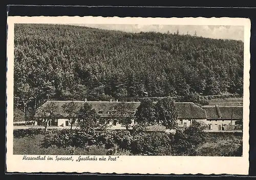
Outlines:
[[[67,114],[63,112],[62,105],[72,102],[72,101],[47,101],[46,103],[42,104],[38,107],[38,110],[42,107],[45,107],[47,104],[54,102],[57,105],[56,113],[59,114],[61,117],[67,117]],[[99,114],[101,117],[108,117],[108,111],[112,110],[112,108],[121,102],[116,101],[73,101],[78,105],[78,108],[83,106],[84,103],[88,103],[92,105],[92,107],[96,110],[96,113],[99,114],[99,111],[102,111],[102,114]],[[131,103],[133,105],[134,111],[140,105],[140,102],[125,102]],[[206,119],[205,110],[197,106],[192,102],[175,102],[175,107],[178,112],[179,119]],[[38,117],[36,113],[35,117]]]

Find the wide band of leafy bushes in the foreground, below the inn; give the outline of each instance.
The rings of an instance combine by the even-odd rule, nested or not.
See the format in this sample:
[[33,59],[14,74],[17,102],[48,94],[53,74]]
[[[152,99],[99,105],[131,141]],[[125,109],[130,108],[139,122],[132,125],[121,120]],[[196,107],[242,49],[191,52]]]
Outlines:
[[[44,132],[44,131],[43,131]],[[204,132],[199,122],[169,135],[157,131],[63,129],[46,134],[42,146],[62,154],[224,155],[242,154],[241,133]]]

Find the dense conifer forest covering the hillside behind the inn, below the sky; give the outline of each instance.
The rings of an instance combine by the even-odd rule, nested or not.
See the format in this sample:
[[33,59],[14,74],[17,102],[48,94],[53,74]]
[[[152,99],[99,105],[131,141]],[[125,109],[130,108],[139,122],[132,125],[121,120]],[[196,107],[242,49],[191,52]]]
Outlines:
[[14,97],[31,108],[48,98],[243,94],[242,41],[69,25],[14,32]]

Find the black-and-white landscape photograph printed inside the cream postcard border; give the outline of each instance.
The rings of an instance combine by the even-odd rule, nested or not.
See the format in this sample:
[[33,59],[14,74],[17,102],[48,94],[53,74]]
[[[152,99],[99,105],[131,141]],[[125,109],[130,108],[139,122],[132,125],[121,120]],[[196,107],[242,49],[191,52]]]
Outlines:
[[245,26],[13,27],[13,155],[247,156]]

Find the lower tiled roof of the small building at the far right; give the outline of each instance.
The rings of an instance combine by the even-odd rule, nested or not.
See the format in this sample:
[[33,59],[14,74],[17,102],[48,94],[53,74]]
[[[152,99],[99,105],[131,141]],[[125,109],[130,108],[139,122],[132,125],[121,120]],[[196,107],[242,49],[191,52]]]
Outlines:
[[203,106],[202,108],[206,112],[207,119],[243,119],[243,106]]

